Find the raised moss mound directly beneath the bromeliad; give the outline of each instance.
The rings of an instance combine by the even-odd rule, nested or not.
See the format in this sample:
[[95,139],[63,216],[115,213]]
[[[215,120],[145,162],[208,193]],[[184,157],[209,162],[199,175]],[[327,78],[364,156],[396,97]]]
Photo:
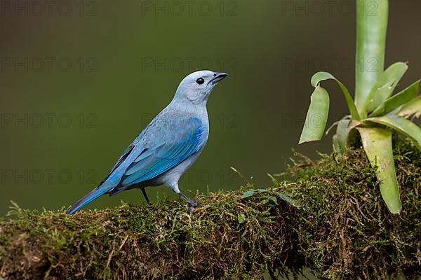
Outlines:
[[[389,214],[375,169],[364,151],[322,155],[307,169],[292,168],[288,190],[302,201],[293,226],[307,265],[330,279],[388,279],[421,275],[421,153],[394,139],[403,211]],[[398,142],[398,143],[396,143]]]

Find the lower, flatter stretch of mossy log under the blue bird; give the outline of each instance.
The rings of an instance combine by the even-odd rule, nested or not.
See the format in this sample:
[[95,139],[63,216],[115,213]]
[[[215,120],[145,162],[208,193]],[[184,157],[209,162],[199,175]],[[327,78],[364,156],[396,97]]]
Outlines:
[[[261,274],[282,251],[274,231],[282,230],[283,218],[264,197],[254,202],[240,197],[239,192],[199,197],[201,207],[193,216],[182,200],[153,207],[123,204],[74,216],[64,209],[17,209],[18,219],[1,224],[1,275],[213,279]],[[239,214],[246,217],[243,223]]]

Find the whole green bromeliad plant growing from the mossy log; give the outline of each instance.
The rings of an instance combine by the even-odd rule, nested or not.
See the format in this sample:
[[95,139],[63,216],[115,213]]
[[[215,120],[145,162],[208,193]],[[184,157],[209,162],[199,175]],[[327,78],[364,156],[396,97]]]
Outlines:
[[[396,130],[406,135],[421,150],[421,128],[408,120],[421,116],[421,97],[417,95],[420,80],[392,95],[408,65],[397,62],[384,70],[388,1],[356,2],[359,8],[356,9],[358,66],[355,102],[347,87],[330,73],[315,73],[311,80],[315,88],[300,144],[321,139],[328,119],[329,95],[320,83],[323,80],[335,80],[345,96],[350,115],[335,123],[337,130],[333,136],[333,148],[342,153],[349,144],[351,132],[359,132],[368,160],[377,168],[376,175],[383,200],[390,212],[398,214],[402,205],[394,169],[392,132]],[[367,12],[370,6],[377,7],[375,14]],[[321,120],[321,124],[312,125],[314,118]]]

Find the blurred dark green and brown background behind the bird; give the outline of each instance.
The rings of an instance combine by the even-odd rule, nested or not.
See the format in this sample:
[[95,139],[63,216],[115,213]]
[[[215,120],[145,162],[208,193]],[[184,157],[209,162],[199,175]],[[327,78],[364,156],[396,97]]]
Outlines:
[[[266,174],[285,169],[293,149],[312,158],[330,151],[331,135],[303,146],[298,139],[312,73],[330,71],[354,89],[354,1],[49,3],[1,1],[0,216],[11,200],[60,209],[88,193],[199,69],[230,76],[210,97],[210,139],[181,190],[238,189],[229,167],[267,186]],[[386,64],[409,62],[401,86],[420,78],[420,8],[390,1]],[[326,87],[330,125],[347,108],[338,87]],[[89,207],[120,200],[144,203],[131,190]]]

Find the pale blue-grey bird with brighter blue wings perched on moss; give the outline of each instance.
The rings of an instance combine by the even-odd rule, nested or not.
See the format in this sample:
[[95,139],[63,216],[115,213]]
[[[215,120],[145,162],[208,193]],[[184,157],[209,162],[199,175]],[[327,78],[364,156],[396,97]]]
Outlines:
[[180,191],[178,181],[208,141],[208,97],[227,76],[202,70],[182,79],[168,106],[126,148],[105,179],[74,203],[67,214],[74,214],[102,195],[113,196],[133,188],[139,188],[150,205],[145,188],[166,185],[187,200],[192,215],[197,202]]

